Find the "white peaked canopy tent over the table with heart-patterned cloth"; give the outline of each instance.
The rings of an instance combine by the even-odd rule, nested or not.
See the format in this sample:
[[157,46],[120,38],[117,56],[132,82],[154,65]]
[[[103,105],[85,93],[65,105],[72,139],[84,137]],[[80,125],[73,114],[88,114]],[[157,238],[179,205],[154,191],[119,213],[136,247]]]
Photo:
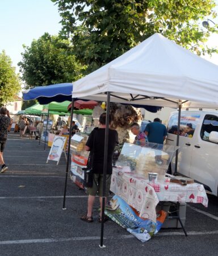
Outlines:
[[[110,105],[110,101],[112,101],[179,107],[179,131],[182,107],[218,108],[217,95],[217,65],[196,56],[160,34],[154,34],[117,59],[74,82],[72,97],[73,101],[74,98],[107,101],[107,105]],[[103,214],[109,113],[109,108],[107,108],[103,168]],[[178,144],[179,135],[177,137]],[[177,159],[178,151],[175,166],[177,166]],[[103,229],[104,224],[102,222],[101,247],[103,247]],[[185,232],[184,228],[183,230]]]

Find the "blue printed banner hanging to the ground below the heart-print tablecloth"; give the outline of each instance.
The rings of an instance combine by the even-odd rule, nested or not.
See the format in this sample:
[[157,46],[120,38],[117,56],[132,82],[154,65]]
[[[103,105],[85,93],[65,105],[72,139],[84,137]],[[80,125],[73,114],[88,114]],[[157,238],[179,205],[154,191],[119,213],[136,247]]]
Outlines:
[[166,212],[163,210],[158,212],[157,222],[141,218],[135,209],[116,195],[112,197],[110,207],[106,207],[105,214],[141,242],[150,240],[161,229],[166,218]]

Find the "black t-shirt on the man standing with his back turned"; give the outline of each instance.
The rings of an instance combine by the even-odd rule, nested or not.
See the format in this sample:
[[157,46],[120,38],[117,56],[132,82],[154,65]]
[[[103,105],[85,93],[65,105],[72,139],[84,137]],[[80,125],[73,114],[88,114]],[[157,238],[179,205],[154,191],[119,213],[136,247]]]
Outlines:
[[[90,147],[93,153],[93,172],[95,174],[103,174],[104,165],[104,128],[95,128],[86,142],[86,146]],[[107,152],[107,174],[112,174],[112,155],[116,144],[118,144],[118,132],[109,129],[108,133],[108,152]],[[94,150],[93,150],[94,148]]]

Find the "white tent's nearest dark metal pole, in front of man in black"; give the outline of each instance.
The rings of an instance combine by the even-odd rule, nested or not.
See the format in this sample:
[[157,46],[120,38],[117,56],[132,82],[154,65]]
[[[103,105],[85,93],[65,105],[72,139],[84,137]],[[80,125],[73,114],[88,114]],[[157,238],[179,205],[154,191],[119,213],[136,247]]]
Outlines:
[[[107,151],[108,151],[108,133],[109,133],[109,115],[110,115],[110,92],[107,92],[107,110],[106,110],[106,129],[104,138],[104,168],[103,168],[103,196],[102,196],[102,220],[104,220],[105,192],[106,192],[106,175],[107,175]],[[100,247],[103,245],[104,221],[100,229]]]

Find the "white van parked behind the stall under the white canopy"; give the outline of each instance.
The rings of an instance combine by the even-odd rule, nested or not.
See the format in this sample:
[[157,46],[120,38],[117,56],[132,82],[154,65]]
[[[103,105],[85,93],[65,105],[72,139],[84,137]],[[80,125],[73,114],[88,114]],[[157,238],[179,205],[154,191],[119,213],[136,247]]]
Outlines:
[[[178,112],[170,115],[166,143],[177,143]],[[175,157],[171,162],[172,173]],[[218,111],[187,110],[181,112],[178,174],[202,183],[218,196]]]

